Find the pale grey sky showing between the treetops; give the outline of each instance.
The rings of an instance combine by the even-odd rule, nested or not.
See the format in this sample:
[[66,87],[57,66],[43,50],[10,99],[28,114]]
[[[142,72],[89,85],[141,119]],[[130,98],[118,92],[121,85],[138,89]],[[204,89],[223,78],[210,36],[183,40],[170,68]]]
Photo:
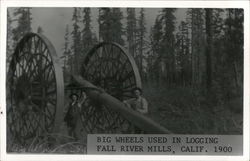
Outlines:
[[[123,16],[126,19],[126,9],[121,9],[124,13]],[[178,26],[179,22],[185,20],[185,12],[187,9],[177,9],[175,16],[176,16],[176,26]],[[137,10],[137,16],[138,16]],[[13,8],[11,12],[13,13]],[[59,56],[62,55],[62,48],[64,44],[64,35],[66,25],[69,24],[70,30],[72,29],[72,14],[73,8],[32,8],[32,29],[33,32],[37,32],[38,26],[41,26],[43,29],[43,34],[52,42],[54,45],[57,54]],[[150,32],[150,28],[154,25],[155,18],[157,15],[160,14],[159,8],[146,8],[145,9],[145,17],[146,17],[146,27],[148,30],[148,34]],[[93,31],[96,33],[98,32],[98,9],[91,8],[91,15],[92,15],[92,26]],[[125,21],[123,22],[125,26]]]

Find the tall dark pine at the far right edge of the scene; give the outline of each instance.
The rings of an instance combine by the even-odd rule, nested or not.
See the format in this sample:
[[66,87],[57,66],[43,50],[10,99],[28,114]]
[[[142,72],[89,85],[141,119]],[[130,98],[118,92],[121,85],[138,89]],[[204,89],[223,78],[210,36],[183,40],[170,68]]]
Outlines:
[[[227,9],[227,19],[225,21],[225,66],[234,83],[232,87],[242,87],[243,84],[243,20],[242,9]],[[238,90],[239,88],[237,88]],[[232,92],[232,91],[230,91]],[[238,90],[239,92],[239,90]]]

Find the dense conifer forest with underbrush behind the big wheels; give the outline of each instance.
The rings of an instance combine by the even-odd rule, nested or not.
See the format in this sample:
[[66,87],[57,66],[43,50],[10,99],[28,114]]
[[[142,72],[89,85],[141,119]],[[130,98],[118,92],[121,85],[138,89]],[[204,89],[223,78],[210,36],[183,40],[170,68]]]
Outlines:
[[[25,33],[46,33],[42,21],[32,28],[35,10],[8,9],[7,68]],[[78,73],[94,44],[117,42],[139,68],[149,117],[174,133],[242,134],[243,9],[158,8],[150,24],[145,10],[72,8],[62,33],[62,67]]]

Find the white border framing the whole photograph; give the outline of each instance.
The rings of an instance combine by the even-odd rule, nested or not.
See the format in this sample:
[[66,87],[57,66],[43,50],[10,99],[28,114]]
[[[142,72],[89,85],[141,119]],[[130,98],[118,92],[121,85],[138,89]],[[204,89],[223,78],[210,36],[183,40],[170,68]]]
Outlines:
[[[250,2],[245,1],[134,1],[134,0],[54,0],[54,1],[7,1],[0,0],[0,130],[1,130],[1,154],[0,160],[22,160],[22,161],[77,161],[77,160],[213,160],[213,161],[249,161],[249,8]],[[171,155],[14,155],[6,154],[6,113],[5,113],[5,77],[6,77],[6,27],[7,7],[146,7],[146,8],[244,8],[244,130],[243,130],[243,156],[171,156]]]

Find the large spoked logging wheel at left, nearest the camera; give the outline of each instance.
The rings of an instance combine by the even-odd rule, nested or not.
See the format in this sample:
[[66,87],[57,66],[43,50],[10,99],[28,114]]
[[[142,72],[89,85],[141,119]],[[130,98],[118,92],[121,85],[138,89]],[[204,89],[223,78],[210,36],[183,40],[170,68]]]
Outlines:
[[61,67],[54,47],[40,34],[17,44],[7,75],[7,126],[25,144],[54,130],[64,103]]

